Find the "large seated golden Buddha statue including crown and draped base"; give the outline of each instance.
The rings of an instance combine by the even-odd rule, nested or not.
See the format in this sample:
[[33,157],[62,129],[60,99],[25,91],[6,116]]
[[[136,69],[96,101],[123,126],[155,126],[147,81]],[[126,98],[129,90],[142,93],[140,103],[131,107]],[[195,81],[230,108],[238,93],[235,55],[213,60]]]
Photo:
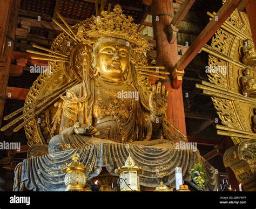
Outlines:
[[[158,71],[146,66],[147,41],[132,21],[116,5],[113,12],[103,11],[73,27],[79,44],[72,46],[70,54],[74,60],[82,60],[73,65],[79,66],[82,79],[60,95],[62,101],[55,104],[58,110],[52,117],[49,154],[17,165],[15,191],[24,186],[36,191],[64,191],[64,174],[60,170],[75,153],[81,163],[91,168],[86,173],[89,180],[103,168],[117,176],[114,170],[122,167],[130,155],[142,168],[142,186],[156,187],[159,180],[174,186],[177,166],[188,180],[188,171],[194,163],[201,162],[208,177],[208,190],[217,189],[217,173],[199,151],[177,148],[177,142],[186,141],[185,135],[166,119],[165,86],[161,82],[151,86],[145,79]],[[59,122],[59,131],[54,134]]]

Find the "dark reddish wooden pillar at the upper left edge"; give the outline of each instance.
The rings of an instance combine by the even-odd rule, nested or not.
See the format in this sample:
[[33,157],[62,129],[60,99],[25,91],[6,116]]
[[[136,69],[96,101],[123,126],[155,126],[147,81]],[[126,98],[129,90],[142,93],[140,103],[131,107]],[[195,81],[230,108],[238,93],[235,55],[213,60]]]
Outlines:
[[19,0],[0,1],[0,126],[2,125],[5,92],[9,79],[11,55],[14,48]]

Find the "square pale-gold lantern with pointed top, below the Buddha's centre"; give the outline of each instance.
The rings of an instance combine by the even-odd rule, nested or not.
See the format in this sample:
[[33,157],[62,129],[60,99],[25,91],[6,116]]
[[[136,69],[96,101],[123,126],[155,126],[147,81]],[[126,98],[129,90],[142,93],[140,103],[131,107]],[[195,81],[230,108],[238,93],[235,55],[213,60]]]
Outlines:
[[139,170],[140,167],[135,165],[133,159],[129,155],[126,159],[125,165],[114,171],[120,178],[120,191],[140,191],[138,176]]

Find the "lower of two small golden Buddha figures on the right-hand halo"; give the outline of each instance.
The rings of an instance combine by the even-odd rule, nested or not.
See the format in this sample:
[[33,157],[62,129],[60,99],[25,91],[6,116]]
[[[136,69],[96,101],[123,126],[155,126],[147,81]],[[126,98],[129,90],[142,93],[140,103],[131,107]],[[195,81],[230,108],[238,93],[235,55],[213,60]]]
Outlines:
[[248,97],[255,98],[256,97],[256,82],[251,76],[251,69],[245,68],[244,76],[241,78],[242,83],[242,94]]

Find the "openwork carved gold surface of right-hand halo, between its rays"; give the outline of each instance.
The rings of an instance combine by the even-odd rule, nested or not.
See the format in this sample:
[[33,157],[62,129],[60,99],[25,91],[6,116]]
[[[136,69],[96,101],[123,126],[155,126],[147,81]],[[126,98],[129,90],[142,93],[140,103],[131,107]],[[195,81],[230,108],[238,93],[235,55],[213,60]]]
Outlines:
[[[208,79],[214,85],[230,89],[232,92],[242,95],[240,79],[242,78],[241,67],[244,65],[241,63],[241,48],[244,46],[243,43],[245,39],[242,39],[240,34],[237,36],[234,36],[234,34],[238,34],[238,31],[248,37],[251,37],[251,34],[250,25],[248,25],[248,20],[246,19],[247,17],[241,16],[241,18],[238,10],[235,10],[225,22],[225,26],[228,26],[227,30],[224,30],[222,27],[215,33],[211,47],[213,50],[216,50],[217,54],[209,55],[208,65],[226,66],[226,71],[220,71],[219,73],[210,72]],[[230,32],[231,30],[232,33]],[[226,55],[228,57],[227,60],[230,61],[224,61],[224,55]],[[238,130],[252,131],[252,107],[255,107],[253,101],[250,105],[241,100],[230,100],[228,96],[224,99],[215,94],[212,100],[220,120],[225,126]],[[235,144],[243,140],[241,137],[232,136],[231,138]]]

